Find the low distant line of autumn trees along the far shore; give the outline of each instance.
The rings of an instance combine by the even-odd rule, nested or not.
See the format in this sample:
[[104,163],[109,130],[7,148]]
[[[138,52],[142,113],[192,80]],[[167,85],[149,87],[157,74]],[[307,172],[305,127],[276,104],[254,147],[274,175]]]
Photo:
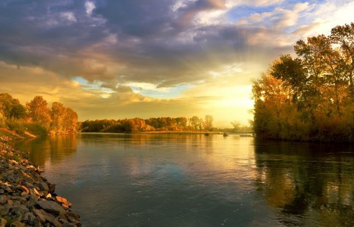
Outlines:
[[133,131],[193,131],[214,130],[213,117],[205,118],[193,116],[186,117],[158,117],[158,118],[132,118],[121,120],[86,120],[81,123],[83,132],[133,132]]

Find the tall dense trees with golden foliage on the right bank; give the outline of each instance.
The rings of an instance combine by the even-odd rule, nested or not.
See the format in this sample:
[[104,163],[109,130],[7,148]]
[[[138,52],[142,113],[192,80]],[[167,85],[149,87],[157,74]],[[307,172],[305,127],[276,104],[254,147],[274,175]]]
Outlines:
[[254,131],[263,138],[354,141],[354,23],[308,37],[253,83]]

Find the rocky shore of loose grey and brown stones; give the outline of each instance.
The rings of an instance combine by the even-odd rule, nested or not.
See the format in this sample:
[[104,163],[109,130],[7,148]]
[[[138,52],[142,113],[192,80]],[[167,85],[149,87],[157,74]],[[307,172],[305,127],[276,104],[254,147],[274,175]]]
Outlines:
[[0,136],[0,227],[79,227],[80,216],[71,203],[55,194],[55,185],[40,175],[27,153]]

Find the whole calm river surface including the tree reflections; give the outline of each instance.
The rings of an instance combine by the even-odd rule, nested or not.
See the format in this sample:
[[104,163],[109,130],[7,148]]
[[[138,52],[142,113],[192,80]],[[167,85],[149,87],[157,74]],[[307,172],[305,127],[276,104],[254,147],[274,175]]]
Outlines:
[[20,141],[90,226],[354,226],[354,147],[232,135]]

